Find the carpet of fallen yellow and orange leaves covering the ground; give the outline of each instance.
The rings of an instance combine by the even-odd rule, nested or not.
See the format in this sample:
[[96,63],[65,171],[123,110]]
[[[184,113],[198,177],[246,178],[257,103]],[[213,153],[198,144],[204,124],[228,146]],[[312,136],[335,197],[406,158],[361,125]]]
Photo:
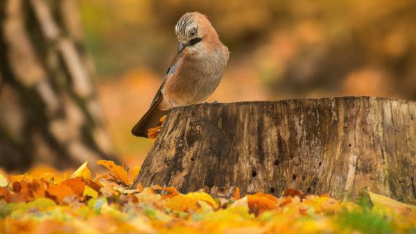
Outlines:
[[367,192],[338,201],[288,189],[228,199],[175,187],[130,189],[138,168],[98,160],[70,176],[0,175],[0,233],[416,233],[416,207]]

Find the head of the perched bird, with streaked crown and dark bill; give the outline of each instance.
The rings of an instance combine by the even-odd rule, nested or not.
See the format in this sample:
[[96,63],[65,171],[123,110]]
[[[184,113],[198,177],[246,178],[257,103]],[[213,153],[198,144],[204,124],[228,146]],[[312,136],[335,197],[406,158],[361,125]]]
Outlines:
[[178,54],[184,49],[198,51],[203,42],[218,40],[214,27],[200,12],[188,12],[182,15],[175,26],[175,33],[179,42]]

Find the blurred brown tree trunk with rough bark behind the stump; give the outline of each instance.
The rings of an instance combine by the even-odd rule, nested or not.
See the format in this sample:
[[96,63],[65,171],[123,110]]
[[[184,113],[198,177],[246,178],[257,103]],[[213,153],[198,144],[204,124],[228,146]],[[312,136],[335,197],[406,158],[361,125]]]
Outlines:
[[0,167],[112,158],[76,1],[0,1]]

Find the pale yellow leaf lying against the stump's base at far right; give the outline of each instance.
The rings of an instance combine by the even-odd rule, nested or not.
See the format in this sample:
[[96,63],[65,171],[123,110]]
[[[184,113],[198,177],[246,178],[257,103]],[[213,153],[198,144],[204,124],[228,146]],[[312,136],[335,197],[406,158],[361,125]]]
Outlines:
[[368,192],[370,195],[370,199],[374,204],[374,208],[376,210],[392,210],[401,215],[408,215],[412,210],[416,210],[416,206],[408,205],[405,203],[401,203],[400,201],[396,201],[394,199],[390,199],[388,197],[384,197],[380,194],[375,194],[372,192]]

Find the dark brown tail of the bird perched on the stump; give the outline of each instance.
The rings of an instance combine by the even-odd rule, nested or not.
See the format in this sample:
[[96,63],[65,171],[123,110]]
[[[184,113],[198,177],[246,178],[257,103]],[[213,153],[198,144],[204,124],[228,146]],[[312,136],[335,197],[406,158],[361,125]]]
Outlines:
[[153,104],[132,129],[132,134],[137,137],[148,137],[149,128],[155,128],[160,124],[159,119],[166,115],[166,111],[159,110],[159,105]]

